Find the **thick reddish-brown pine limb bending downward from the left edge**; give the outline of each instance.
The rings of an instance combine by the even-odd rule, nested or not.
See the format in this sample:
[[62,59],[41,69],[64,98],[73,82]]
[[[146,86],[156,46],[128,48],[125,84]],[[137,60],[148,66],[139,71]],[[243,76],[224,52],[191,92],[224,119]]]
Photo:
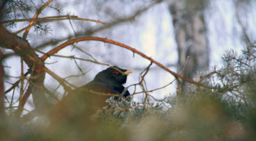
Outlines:
[[[45,72],[39,68],[45,67],[45,64],[40,60],[35,51],[33,51],[29,42],[8,32],[3,26],[0,26],[0,46],[6,49],[12,49],[15,54],[21,56],[26,65],[29,66],[29,69],[31,69],[31,77],[29,81],[33,84],[31,92],[33,94],[35,108],[43,110],[45,105],[47,105],[45,92],[42,90],[45,80]],[[26,94],[26,97],[24,98],[25,101],[20,101],[22,102],[22,105],[24,105],[28,97],[29,94]]]

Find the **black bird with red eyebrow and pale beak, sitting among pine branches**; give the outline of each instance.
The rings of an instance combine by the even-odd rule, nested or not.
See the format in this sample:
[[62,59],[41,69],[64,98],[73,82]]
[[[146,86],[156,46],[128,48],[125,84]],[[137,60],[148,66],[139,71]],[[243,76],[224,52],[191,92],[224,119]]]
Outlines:
[[[107,106],[106,99],[111,95],[115,95],[115,100],[129,97],[130,93],[125,90],[123,84],[126,83],[127,75],[130,73],[130,70],[116,66],[99,72],[93,81],[73,90],[72,94],[68,94],[57,103],[53,116],[55,121],[64,117],[77,119],[77,117],[93,115],[96,110]],[[127,100],[129,101],[129,98]]]

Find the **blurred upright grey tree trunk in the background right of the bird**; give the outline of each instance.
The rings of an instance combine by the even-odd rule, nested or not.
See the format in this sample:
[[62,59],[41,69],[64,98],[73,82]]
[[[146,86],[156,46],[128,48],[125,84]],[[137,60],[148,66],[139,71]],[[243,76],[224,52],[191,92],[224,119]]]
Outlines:
[[[186,4],[188,4],[186,1],[175,1],[169,6],[177,42],[177,70],[181,72],[184,69],[184,77],[198,80],[198,72],[209,69],[207,30],[202,10],[188,8],[189,5]],[[186,63],[188,57],[189,61]],[[189,83],[181,82],[185,87],[189,86]]]

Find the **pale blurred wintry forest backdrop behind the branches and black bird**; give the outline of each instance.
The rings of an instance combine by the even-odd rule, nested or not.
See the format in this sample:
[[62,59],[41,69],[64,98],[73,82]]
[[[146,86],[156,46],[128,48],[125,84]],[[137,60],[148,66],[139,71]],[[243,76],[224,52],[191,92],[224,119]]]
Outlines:
[[[17,10],[16,13],[10,13],[6,20],[31,18],[36,8],[45,3],[45,1],[23,2],[31,6],[29,7],[31,9],[24,8]],[[47,52],[70,38],[82,36],[107,38],[134,47],[177,73],[181,72],[186,64],[183,76],[198,80],[199,73],[205,73],[213,66],[221,64],[221,56],[227,49],[234,49],[240,53],[246,44],[245,32],[249,38],[255,39],[253,34],[256,31],[255,6],[255,1],[250,0],[53,1],[38,17],[74,15],[97,19],[105,22],[106,25],[72,19],[41,22],[32,27],[27,40],[31,47]],[[8,30],[15,32],[27,24],[28,22],[8,23],[7,27]],[[17,35],[22,36],[22,33]],[[131,69],[134,73],[129,75],[126,86],[138,83],[139,73],[150,64],[145,58],[113,44],[90,41],[75,45],[90,53],[101,63]],[[42,56],[42,53],[38,54]],[[59,51],[58,55],[90,58],[71,45]],[[4,62],[8,66],[5,67],[6,74],[12,76],[8,83],[5,83],[6,89],[10,87],[10,83],[17,81],[15,76],[20,74],[18,58],[11,56]],[[86,72],[86,75],[67,79],[77,86],[88,83],[95,74],[106,68],[82,60],[77,60],[75,63],[70,58],[54,56],[48,58],[46,63],[49,63],[46,64],[49,69],[63,78],[82,74],[80,70]],[[77,67],[77,64],[81,68]],[[173,79],[172,75],[156,65],[152,65],[150,72],[145,76],[148,90],[160,88]],[[50,90],[58,88],[56,92],[63,93],[63,88],[59,87],[57,81],[49,75],[45,78],[45,86]],[[152,92],[152,95],[157,99],[163,99],[164,96],[175,94],[175,87],[176,84],[172,83],[166,88]],[[129,91],[133,92],[134,88],[130,87]],[[10,92],[8,97],[11,96]],[[17,97],[19,96],[15,96],[15,99]],[[134,96],[134,101],[142,99],[143,94]]]

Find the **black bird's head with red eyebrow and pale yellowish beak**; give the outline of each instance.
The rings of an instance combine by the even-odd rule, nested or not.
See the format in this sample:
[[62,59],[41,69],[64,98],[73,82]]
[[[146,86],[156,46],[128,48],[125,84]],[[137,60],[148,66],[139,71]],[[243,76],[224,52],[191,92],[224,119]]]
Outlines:
[[121,69],[120,67],[109,67],[102,72],[99,72],[94,78],[94,81],[106,83],[106,85],[122,85],[127,81],[127,75],[130,74],[129,69]]

